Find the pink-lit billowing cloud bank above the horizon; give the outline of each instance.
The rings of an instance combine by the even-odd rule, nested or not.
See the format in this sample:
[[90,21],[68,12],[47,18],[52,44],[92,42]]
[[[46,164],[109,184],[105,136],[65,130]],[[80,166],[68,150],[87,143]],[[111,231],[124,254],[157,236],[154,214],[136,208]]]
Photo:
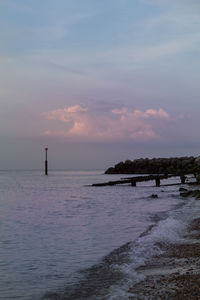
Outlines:
[[46,130],[45,135],[102,142],[159,139],[160,128],[170,121],[169,114],[161,108],[141,111],[122,107],[97,114],[80,105],[44,112],[42,117],[68,123],[67,129],[64,126],[61,130]]

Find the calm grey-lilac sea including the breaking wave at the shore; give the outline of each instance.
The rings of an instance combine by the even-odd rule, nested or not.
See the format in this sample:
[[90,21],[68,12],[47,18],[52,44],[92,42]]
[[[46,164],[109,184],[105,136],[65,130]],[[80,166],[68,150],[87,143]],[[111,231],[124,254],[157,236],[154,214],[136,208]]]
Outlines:
[[129,299],[138,267],[183,239],[200,201],[178,177],[91,186],[122,177],[0,171],[0,299]]

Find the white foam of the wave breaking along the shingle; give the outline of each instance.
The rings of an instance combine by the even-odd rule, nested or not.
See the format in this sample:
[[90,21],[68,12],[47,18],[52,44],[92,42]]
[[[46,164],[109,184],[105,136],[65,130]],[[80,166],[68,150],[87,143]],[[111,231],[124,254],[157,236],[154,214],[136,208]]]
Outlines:
[[124,273],[124,279],[110,288],[109,300],[129,299],[128,290],[145,279],[143,274],[137,272],[137,268],[144,266],[153,256],[162,254],[161,245],[183,242],[188,222],[193,218],[193,205],[194,200],[191,199],[181,209],[171,212],[167,219],[159,221],[148,234],[136,240],[130,253],[131,263],[117,267]]

